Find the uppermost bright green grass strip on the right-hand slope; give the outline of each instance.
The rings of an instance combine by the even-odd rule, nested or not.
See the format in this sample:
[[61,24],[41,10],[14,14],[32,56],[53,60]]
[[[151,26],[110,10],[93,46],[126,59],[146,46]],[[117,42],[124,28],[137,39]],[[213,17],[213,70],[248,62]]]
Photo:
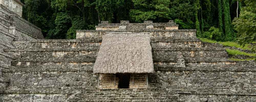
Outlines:
[[[219,43],[219,44],[222,44],[223,46],[229,46],[229,47],[237,47],[237,48],[242,48],[242,49],[251,49],[250,48],[250,44],[246,44],[243,46],[239,45],[238,43],[236,42],[230,42],[230,41],[227,41],[227,42],[217,42],[217,41],[213,41],[213,40],[210,40],[210,39],[206,39],[206,38],[200,38],[201,41],[203,42],[208,42],[208,43]],[[256,43],[256,42],[255,42]]]

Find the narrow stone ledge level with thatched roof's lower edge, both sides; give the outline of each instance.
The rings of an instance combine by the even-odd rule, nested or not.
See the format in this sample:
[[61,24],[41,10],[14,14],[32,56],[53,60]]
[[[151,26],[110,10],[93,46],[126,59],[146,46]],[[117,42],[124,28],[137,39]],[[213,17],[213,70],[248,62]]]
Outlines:
[[[200,72],[256,72],[256,67],[154,67],[155,73],[157,71],[200,71]],[[77,72],[77,71],[93,71],[93,66],[86,67],[29,67],[29,68],[16,68],[16,69],[5,69],[3,72]]]

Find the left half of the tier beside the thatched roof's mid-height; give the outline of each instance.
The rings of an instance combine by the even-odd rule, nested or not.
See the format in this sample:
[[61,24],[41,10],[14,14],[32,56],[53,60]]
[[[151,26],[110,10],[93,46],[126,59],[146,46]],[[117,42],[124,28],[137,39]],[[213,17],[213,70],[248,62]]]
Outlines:
[[[18,49],[15,49],[18,50]],[[6,49],[6,53],[13,55],[16,59],[18,58],[97,58],[98,49],[32,49],[24,51],[13,51]]]

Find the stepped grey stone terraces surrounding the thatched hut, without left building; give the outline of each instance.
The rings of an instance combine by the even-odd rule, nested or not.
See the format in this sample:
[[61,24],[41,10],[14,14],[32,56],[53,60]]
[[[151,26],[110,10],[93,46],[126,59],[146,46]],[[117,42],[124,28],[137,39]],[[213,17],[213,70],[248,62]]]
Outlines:
[[[75,40],[13,41],[0,101],[256,101],[256,64],[231,61],[220,44],[168,23],[102,22]],[[148,88],[99,89],[93,65],[106,32],[149,32],[155,73]]]

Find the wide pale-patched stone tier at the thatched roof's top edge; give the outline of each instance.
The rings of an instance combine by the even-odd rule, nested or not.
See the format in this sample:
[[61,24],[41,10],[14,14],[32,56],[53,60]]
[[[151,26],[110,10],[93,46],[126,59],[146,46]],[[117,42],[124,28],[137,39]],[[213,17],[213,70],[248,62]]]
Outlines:
[[196,30],[176,29],[176,30],[154,30],[154,29],[134,29],[134,30],[78,30],[76,39],[102,40],[107,32],[149,32],[151,41],[170,41],[175,39],[196,39]]

